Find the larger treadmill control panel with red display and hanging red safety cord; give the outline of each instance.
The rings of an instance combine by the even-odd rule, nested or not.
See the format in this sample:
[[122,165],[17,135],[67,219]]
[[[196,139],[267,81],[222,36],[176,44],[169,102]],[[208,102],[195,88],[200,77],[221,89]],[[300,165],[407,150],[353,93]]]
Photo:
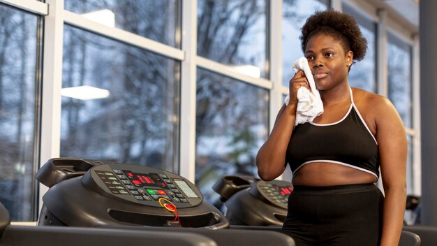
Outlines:
[[134,203],[161,207],[160,198],[177,208],[202,202],[202,194],[190,181],[175,173],[156,168],[126,164],[95,166],[84,175],[84,184],[97,185],[105,194]]

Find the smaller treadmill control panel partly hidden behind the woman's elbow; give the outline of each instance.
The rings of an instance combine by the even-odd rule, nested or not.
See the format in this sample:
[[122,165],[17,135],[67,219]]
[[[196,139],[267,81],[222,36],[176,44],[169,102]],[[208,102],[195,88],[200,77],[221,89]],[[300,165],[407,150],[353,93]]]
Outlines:
[[291,194],[293,187],[290,182],[281,180],[272,180],[269,182],[258,181],[256,188],[260,194],[270,203],[287,209],[288,196]]

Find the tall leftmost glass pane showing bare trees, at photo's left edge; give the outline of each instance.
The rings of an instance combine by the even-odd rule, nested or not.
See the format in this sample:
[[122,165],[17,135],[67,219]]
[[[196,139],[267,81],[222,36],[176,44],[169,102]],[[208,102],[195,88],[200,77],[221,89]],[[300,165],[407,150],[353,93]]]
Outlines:
[[0,201],[32,220],[38,17],[0,5]]

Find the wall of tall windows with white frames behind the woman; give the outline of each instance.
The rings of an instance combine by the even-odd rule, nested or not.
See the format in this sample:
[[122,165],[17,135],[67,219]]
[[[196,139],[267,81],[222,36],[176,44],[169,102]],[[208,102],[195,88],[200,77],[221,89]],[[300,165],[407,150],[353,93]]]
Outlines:
[[[392,10],[370,20],[377,6],[361,1],[10,0],[0,3],[0,202],[14,221],[36,219],[47,190],[35,180],[37,165],[60,155],[181,173],[220,205],[212,191],[218,178],[257,175],[276,96],[288,92],[303,55],[300,29],[331,2],[345,3],[369,42],[350,85],[375,92],[384,82],[376,71],[388,72],[380,88],[408,133],[408,192],[420,192],[411,96],[417,47],[407,41],[417,30],[401,30],[406,39],[389,33],[383,43],[376,27],[399,30]],[[279,35],[280,47],[270,42]],[[379,44],[387,62],[376,62]],[[271,62],[279,56],[280,64]]]

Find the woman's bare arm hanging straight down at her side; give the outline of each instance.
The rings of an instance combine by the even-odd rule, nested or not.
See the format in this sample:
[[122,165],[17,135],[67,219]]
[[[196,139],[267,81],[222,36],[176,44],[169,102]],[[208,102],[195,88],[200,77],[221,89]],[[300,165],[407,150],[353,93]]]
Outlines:
[[382,246],[398,245],[406,205],[406,131],[396,109],[383,97],[376,103],[376,139],[385,192]]

